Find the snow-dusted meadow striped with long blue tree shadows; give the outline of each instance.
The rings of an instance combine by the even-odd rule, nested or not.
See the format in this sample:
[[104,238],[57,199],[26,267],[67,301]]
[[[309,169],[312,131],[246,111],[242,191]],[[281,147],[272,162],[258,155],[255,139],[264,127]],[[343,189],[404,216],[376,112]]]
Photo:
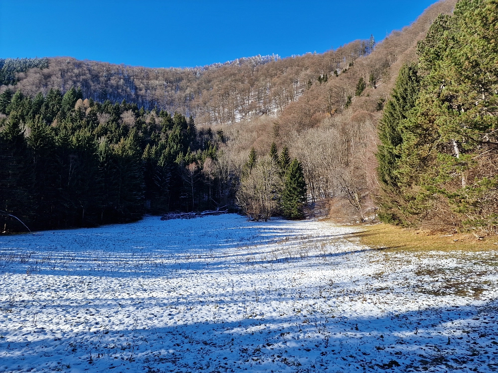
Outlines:
[[0,372],[498,370],[497,256],[238,215],[0,237]]

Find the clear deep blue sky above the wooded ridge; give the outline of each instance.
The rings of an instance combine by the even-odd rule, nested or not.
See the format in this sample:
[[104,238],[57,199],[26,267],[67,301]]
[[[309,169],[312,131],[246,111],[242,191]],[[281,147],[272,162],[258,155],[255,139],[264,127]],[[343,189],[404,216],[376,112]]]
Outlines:
[[0,58],[72,56],[147,67],[377,41],[435,0],[0,0]]

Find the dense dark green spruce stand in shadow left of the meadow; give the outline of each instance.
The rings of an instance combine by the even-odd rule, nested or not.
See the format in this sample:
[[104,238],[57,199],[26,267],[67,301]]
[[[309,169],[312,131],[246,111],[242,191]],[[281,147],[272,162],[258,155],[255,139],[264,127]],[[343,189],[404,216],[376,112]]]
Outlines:
[[[95,226],[145,212],[235,202],[203,172],[225,141],[193,118],[136,104],[83,100],[80,90],[0,94],[1,231]],[[223,189],[223,190],[221,190]],[[287,215],[286,215],[287,216]],[[294,217],[294,216],[290,216]]]

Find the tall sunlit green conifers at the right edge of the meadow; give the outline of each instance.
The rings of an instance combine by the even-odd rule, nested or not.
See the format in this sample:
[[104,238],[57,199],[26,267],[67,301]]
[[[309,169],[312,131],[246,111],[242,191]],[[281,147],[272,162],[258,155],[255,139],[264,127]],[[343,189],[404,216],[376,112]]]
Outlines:
[[498,233],[497,15],[460,0],[401,69],[379,126],[384,221]]

